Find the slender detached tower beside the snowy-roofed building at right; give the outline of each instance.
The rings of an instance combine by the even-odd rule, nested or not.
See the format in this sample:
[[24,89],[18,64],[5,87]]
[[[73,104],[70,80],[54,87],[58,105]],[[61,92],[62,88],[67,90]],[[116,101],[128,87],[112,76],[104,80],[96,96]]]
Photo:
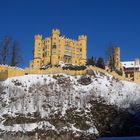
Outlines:
[[120,70],[121,64],[120,64],[120,48],[114,48],[114,67],[117,70]]

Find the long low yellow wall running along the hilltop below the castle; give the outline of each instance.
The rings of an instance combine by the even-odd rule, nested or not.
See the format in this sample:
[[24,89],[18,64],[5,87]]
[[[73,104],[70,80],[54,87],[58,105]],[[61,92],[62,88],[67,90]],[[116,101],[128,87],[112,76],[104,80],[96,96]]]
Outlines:
[[120,76],[115,72],[107,72],[104,69],[89,66],[86,70],[63,70],[62,68],[57,68],[57,67],[52,67],[48,68],[46,70],[40,70],[40,69],[32,69],[32,68],[26,68],[26,69],[21,69],[17,67],[10,67],[7,65],[0,65],[0,80],[5,80],[10,77],[14,76],[23,76],[26,74],[57,74],[57,73],[64,73],[67,75],[83,75],[86,74],[87,70],[92,70],[92,71],[99,71],[104,74],[110,74],[114,78],[118,80],[126,80],[124,76]]

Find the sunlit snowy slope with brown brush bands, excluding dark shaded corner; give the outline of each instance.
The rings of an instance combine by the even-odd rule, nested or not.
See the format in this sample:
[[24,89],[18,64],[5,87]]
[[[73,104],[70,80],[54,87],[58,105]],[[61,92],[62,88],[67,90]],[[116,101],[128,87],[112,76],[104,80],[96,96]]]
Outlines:
[[[3,88],[4,86],[4,88]],[[91,101],[128,108],[140,99],[140,86],[94,73],[86,76],[25,75],[2,82],[0,130],[5,132],[53,131],[98,135],[90,114]]]

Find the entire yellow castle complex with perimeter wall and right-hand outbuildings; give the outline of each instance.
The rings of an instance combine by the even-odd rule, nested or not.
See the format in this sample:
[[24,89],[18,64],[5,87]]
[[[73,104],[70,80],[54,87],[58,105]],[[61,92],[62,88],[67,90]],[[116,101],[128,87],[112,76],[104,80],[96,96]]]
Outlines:
[[[85,70],[65,70],[59,67],[60,64],[70,65],[86,65],[87,60],[87,36],[78,36],[77,40],[68,39],[61,36],[60,30],[53,29],[51,37],[42,38],[42,35],[34,37],[33,60],[26,69],[19,69],[0,65],[0,80],[5,80],[13,76],[21,76],[26,74],[56,74],[65,73],[68,75],[83,75],[87,71],[100,71],[109,73],[119,80],[131,80],[140,83],[140,60],[121,62],[120,48],[116,47],[112,50],[113,69],[106,66],[101,69],[95,66],[86,66]],[[58,67],[56,67],[58,66]],[[122,75],[119,75],[119,71]],[[116,73],[117,72],[117,73]]]

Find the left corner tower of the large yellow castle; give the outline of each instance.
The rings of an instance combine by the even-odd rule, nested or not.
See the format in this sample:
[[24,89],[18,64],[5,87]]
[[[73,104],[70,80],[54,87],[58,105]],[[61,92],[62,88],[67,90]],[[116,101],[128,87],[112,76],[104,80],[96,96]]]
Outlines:
[[33,67],[40,68],[42,65],[42,57],[43,57],[43,47],[42,47],[42,35],[35,35],[34,37],[34,60]]

